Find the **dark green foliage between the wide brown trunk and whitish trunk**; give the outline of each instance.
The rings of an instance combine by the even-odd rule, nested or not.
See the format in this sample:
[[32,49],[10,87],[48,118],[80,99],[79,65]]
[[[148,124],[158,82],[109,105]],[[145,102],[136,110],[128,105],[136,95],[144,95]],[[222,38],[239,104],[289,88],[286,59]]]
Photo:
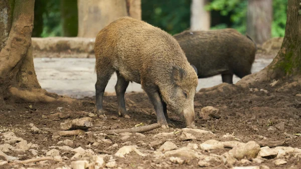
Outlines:
[[175,34],[190,27],[191,0],[141,0],[142,20]]

